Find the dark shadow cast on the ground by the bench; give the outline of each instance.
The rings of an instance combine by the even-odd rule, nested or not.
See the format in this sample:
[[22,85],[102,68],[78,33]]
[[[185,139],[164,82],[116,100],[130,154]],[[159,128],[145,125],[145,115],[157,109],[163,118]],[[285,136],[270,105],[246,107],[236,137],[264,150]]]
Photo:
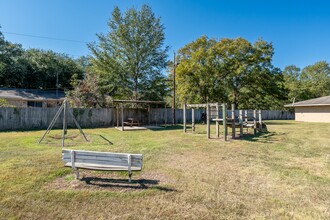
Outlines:
[[81,181],[86,182],[88,185],[104,187],[104,188],[122,188],[122,189],[157,189],[165,192],[176,192],[176,189],[172,189],[165,186],[158,186],[158,180],[150,179],[138,179],[128,182],[127,179],[112,179],[112,178],[99,178],[99,177],[83,177]]

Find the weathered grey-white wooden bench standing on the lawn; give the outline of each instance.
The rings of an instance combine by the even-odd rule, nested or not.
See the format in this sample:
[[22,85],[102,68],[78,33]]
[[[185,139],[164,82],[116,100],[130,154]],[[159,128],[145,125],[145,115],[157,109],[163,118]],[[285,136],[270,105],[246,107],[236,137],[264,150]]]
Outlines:
[[62,150],[64,166],[72,167],[76,179],[79,178],[79,169],[127,171],[131,182],[132,171],[142,170],[142,158],[142,154]]

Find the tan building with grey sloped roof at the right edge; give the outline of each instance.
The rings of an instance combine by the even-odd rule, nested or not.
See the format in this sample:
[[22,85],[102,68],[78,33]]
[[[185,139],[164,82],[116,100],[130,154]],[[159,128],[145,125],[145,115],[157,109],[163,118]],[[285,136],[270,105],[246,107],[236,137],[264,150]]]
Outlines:
[[296,121],[330,122],[330,96],[285,105],[295,108]]

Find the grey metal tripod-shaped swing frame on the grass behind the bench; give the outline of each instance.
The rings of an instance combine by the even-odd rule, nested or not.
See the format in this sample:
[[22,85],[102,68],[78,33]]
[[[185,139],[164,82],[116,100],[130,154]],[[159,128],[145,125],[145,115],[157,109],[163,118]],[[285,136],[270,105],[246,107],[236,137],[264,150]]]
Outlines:
[[70,108],[69,102],[67,101],[67,99],[65,99],[61,105],[61,107],[58,109],[58,111],[56,112],[53,120],[50,122],[47,130],[45,131],[45,133],[43,134],[43,136],[40,138],[40,140],[38,141],[38,143],[40,144],[42,142],[42,140],[45,138],[45,136],[47,134],[50,133],[50,131],[52,130],[54,124],[56,123],[57,119],[59,118],[59,116],[61,115],[61,113],[63,112],[63,133],[62,133],[62,147],[64,147],[64,140],[65,140],[65,135],[68,132],[68,114],[72,117],[74,124],[77,126],[77,128],[79,129],[80,133],[83,135],[85,141],[88,142],[85,133],[83,132],[83,130],[81,129],[79,123],[77,122],[77,120],[75,119],[75,117],[73,116],[72,110]]

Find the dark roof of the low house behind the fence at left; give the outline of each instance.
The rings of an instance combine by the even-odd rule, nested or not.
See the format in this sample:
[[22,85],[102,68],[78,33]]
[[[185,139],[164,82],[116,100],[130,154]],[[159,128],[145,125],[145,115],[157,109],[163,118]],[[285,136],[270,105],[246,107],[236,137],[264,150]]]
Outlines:
[[41,89],[11,89],[0,88],[0,98],[16,100],[64,100],[63,90],[41,90]]

